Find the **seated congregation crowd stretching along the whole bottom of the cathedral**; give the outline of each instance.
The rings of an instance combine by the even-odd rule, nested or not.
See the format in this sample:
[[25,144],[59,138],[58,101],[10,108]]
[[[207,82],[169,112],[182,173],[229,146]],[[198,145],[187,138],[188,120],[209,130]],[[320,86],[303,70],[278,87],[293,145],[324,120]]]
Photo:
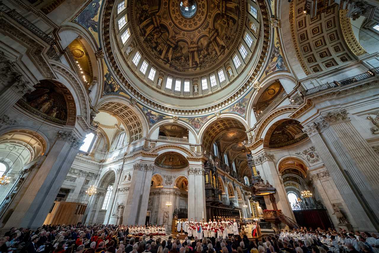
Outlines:
[[57,225],[42,226],[35,231],[11,228],[0,238],[1,252],[44,253],[379,253],[379,237],[375,233],[293,229],[280,234],[248,239],[246,234],[186,237],[184,240],[162,240],[150,234],[135,236],[125,225]]

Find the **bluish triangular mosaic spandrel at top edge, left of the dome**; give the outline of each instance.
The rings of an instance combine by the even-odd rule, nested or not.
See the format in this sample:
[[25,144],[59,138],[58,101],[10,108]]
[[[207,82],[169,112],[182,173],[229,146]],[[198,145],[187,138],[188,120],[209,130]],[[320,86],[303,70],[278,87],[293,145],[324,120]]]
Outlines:
[[103,0],[92,0],[91,3],[74,19],[85,27],[99,44],[99,12]]

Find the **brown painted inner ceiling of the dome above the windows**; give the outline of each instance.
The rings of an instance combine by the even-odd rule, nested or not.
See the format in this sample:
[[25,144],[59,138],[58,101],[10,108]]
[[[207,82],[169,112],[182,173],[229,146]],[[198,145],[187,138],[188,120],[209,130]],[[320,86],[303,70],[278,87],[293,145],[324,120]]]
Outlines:
[[[246,1],[197,0],[186,6],[193,16],[186,17],[181,6],[186,1],[134,0],[129,16],[149,58],[173,74],[199,74],[228,60],[243,32]],[[139,43],[142,42],[142,43]]]

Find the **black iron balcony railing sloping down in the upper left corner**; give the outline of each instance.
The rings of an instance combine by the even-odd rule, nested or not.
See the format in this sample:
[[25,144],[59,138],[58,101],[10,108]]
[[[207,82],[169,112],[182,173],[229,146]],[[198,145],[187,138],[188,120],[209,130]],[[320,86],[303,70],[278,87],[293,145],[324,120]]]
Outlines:
[[3,2],[0,1],[0,12],[3,12],[7,14],[11,19],[15,20],[17,23],[25,27],[27,30],[29,30],[31,33],[36,35],[38,38],[45,41],[47,44],[50,45],[49,50],[47,51],[47,56],[56,61],[60,61],[56,50],[54,48],[55,40],[47,35],[44,31],[33,25],[29,20],[25,19],[20,13],[18,13],[15,9],[11,9],[8,6],[6,6]]

